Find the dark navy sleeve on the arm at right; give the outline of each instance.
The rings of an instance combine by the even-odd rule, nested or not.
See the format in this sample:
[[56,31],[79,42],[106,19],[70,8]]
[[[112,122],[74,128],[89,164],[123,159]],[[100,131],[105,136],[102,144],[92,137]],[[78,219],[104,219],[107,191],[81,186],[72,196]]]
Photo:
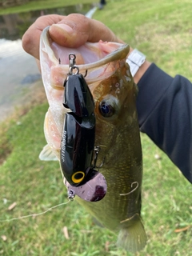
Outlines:
[[192,183],[192,84],[151,64],[138,82],[138,122]]

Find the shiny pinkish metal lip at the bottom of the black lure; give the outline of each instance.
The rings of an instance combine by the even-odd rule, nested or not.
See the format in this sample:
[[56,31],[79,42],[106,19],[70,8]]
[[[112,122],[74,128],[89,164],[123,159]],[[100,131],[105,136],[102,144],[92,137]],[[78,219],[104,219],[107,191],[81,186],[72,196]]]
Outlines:
[[98,171],[92,170],[88,175],[89,181],[81,186],[72,186],[64,178],[68,190],[68,198],[73,201],[75,195],[87,202],[98,202],[105,197],[107,191],[106,178]]

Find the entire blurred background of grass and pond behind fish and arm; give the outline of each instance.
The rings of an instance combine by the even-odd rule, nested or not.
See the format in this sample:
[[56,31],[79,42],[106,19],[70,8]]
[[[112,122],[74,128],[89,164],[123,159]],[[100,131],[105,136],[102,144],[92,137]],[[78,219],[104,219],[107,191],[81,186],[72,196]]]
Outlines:
[[[0,0],[0,255],[132,255],[118,249],[117,234],[95,225],[75,201],[42,216],[9,221],[67,202],[58,162],[38,159],[46,145],[48,104],[35,60],[22,50],[22,34],[43,14],[86,14],[98,5],[90,0]],[[93,18],[171,76],[191,80],[191,10],[191,0],[106,0]],[[148,244],[136,255],[191,256],[192,186],[145,134],[141,137]]]

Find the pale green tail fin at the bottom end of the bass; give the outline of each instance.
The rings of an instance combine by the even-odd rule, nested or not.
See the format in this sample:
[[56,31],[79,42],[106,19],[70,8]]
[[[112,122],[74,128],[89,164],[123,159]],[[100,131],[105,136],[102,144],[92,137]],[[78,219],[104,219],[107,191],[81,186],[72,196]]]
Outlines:
[[135,214],[127,222],[126,220],[122,222],[122,229],[119,231],[117,242],[119,247],[136,253],[146,246],[146,241],[146,231],[139,214]]

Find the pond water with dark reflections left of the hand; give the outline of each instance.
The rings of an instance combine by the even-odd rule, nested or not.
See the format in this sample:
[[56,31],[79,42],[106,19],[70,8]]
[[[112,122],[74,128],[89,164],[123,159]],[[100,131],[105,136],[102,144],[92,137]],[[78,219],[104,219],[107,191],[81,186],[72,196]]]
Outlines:
[[[37,83],[41,78],[38,67],[34,58],[22,49],[21,38],[27,28],[44,14],[86,14],[92,7],[90,4],[78,4],[0,15],[0,121],[14,112],[15,107],[34,101],[34,93],[38,91]],[[30,96],[26,98],[26,94]]]

